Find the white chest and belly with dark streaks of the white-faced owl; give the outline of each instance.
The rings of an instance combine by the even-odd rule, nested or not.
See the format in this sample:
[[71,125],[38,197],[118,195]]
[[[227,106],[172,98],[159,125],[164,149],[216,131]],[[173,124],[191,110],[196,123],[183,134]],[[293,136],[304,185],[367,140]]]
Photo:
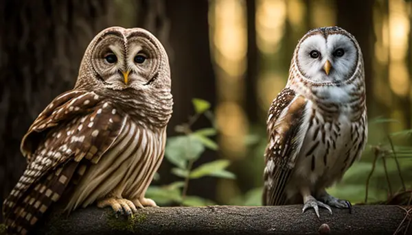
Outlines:
[[[306,103],[301,123],[304,142],[297,156],[295,174],[286,189],[293,197],[300,186],[311,186],[316,193],[341,180],[354,160],[361,156],[365,146],[366,112],[361,92],[354,85],[314,89],[313,99]],[[359,107],[361,106],[361,107]]]

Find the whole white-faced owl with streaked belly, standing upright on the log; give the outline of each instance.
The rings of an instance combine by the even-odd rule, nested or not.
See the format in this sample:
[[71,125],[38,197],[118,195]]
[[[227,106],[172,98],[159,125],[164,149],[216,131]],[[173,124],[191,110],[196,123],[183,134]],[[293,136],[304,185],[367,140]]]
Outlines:
[[[297,45],[288,83],[268,112],[264,205],[350,208],[326,193],[360,158],[367,139],[361,48],[339,27]],[[330,210],[330,212],[332,212]]]

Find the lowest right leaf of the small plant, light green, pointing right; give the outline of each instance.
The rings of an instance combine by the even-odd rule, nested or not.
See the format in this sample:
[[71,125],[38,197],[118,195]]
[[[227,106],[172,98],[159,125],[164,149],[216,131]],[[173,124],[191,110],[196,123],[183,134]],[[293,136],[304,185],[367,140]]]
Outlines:
[[[233,177],[229,171],[225,171],[225,168],[229,166],[229,160],[216,160],[214,162],[207,162],[198,166],[190,173],[190,179],[197,179],[203,176],[215,176],[215,177]],[[225,173],[227,172],[227,173]]]

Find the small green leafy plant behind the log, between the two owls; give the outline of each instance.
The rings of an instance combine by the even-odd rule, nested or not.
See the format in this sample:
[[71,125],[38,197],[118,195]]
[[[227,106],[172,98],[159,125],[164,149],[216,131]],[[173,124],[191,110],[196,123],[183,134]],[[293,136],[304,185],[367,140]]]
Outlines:
[[[193,164],[198,160],[205,149],[216,151],[218,145],[210,136],[217,134],[214,115],[209,110],[210,103],[203,99],[192,100],[196,113],[190,116],[187,123],[177,125],[175,131],[179,136],[169,137],[165,148],[165,159],[174,165],[171,172],[182,180],[164,186],[150,186],[147,197],[154,199],[161,205],[179,203],[181,206],[207,206],[216,204],[214,201],[203,199],[194,195],[187,195],[190,180],[205,176],[234,179],[235,175],[226,170],[229,160],[215,160],[207,162],[193,169]],[[211,121],[212,127],[192,130],[192,125],[201,115]]]

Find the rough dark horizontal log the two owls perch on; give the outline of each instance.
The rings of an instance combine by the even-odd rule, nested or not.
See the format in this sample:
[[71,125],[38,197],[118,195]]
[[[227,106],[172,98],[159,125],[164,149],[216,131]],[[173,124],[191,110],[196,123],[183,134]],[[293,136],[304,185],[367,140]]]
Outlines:
[[[57,213],[57,212],[56,212]],[[293,206],[208,206],[200,208],[145,208],[133,219],[116,218],[111,209],[86,208],[68,218],[52,214],[34,234],[411,234],[405,231],[411,215],[398,206],[354,206],[301,214]],[[404,218],[407,218],[404,220]],[[402,223],[402,220],[403,223]],[[326,225],[323,225],[326,224]],[[321,227],[329,233],[319,232]]]

